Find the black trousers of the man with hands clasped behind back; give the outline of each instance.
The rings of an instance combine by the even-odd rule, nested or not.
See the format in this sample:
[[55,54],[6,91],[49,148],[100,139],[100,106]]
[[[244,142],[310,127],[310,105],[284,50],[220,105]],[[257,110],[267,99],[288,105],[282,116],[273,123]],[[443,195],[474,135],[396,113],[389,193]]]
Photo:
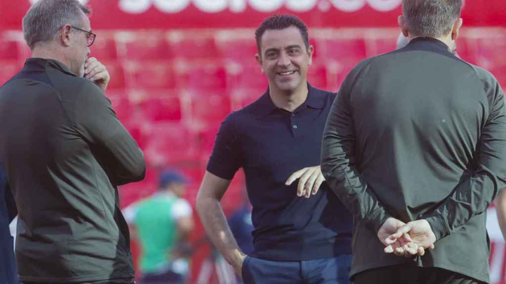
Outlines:
[[353,276],[354,284],[484,284],[469,276],[436,267],[399,264],[362,271]]

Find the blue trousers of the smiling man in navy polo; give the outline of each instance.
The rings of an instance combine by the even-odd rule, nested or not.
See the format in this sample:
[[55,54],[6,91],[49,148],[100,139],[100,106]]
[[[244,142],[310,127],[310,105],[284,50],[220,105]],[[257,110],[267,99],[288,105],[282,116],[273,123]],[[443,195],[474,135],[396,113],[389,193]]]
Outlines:
[[351,255],[306,261],[269,261],[247,256],[244,284],[351,284]]

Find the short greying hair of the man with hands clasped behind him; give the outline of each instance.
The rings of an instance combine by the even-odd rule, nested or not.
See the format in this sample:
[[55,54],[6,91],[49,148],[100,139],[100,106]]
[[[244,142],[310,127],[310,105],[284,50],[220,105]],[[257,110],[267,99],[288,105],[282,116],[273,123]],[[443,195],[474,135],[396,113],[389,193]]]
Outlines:
[[449,34],[462,9],[462,0],[403,0],[402,4],[402,14],[412,36]]

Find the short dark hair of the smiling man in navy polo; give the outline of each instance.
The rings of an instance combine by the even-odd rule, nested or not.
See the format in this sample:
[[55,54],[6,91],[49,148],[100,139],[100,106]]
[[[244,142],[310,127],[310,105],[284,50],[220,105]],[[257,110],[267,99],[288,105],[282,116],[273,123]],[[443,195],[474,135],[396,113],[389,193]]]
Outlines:
[[304,44],[306,45],[306,49],[308,49],[309,48],[308,26],[306,26],[306,24],[297,16],[283,14],[283,15],[274,15],[265,19],[255,31],[255,39],[257,40],[258,52],[262,54],[260,45],[262,36],[264,35],[266,30],[282,30],[289,28],[291,26],[294,26],[299,29],[302,35],[302,39],[304,40]]

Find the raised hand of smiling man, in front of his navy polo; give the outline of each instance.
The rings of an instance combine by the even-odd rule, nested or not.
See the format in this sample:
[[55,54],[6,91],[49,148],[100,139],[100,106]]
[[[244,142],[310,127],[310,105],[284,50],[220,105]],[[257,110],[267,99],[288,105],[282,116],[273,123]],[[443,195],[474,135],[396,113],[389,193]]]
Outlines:
[[292,173],[285,184],[290,185],[298,178],[297,196],[305,196],[306,198],[309,198],[311,194],[315,195],[322,182],[325,181],[320,166],[304,168]]

